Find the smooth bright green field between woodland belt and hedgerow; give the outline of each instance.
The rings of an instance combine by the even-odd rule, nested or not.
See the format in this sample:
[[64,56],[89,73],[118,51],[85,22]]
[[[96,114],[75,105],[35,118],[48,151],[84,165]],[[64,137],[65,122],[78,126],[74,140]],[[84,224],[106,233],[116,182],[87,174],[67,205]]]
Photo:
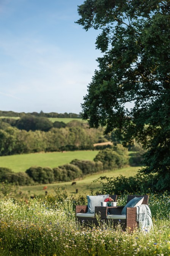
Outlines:
[[10,168],[15,173],[26,171],[31,166],[49,166],[51,168],[64,165],[77,158],[79,160],[93,160],[97,150],[32,153],[24,155],[7,155],[0,157],[0,167]]

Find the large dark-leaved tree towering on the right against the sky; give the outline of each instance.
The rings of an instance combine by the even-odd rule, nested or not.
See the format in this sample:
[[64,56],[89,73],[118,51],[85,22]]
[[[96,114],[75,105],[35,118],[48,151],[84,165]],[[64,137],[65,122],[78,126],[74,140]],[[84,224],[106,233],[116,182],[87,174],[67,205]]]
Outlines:
[[[145,172],[170,178],[170,0],[85,0],[77,21],[99,30],[99,70],[84,97],[89,126],[116,129],[125,145],[148,149]],[[132,102],[131,109],[127,103]]]

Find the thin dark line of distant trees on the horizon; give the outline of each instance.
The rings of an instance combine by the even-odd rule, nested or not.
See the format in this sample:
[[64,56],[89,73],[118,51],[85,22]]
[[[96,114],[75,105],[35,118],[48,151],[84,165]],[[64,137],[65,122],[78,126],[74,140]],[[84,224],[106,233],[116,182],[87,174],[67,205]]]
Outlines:
[[75,114],[75,113],[64,113],[64,114],[58,114],[55,112],[50,112],[50,113],[44,113],[42,110],[38,112],[32,112],[32,113],[25,113],[25,112],[14,112],[14,111],[2,111],[0,110],[0,116],[3,117],[24,117],[27,115],[34,115],[36,117],[60,117],[60,118],[81,118],[82,113]]

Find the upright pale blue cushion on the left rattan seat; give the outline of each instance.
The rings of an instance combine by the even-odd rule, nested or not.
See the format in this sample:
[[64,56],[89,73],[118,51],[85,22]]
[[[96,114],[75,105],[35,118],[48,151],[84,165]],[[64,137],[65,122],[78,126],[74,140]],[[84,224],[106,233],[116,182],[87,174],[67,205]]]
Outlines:
[[88,211],[87,213],[94,213],[95,206],[101,206],[101,202],[108,198],[109,195],[87,195]]

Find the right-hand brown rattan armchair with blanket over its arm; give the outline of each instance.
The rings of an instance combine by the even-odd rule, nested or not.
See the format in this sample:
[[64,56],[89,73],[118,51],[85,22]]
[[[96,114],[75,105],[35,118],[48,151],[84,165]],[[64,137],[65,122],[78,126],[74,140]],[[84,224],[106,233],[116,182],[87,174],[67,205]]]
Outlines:
[[[127,203],[134,197],[144,197],[142,204],[148,204],[148,195],[128,195]],[[136,221],[136,207],[127,207],[126,215],[121,215],[124,206],[115,206],[115,207],[101,207],[95,206],[95,214],[99,214],[102,221],[116,225],[120,225],[123,230],[129,229],[132,231],[135,227],[138,226]],[[109,215],[107,214],[109,208]]]

